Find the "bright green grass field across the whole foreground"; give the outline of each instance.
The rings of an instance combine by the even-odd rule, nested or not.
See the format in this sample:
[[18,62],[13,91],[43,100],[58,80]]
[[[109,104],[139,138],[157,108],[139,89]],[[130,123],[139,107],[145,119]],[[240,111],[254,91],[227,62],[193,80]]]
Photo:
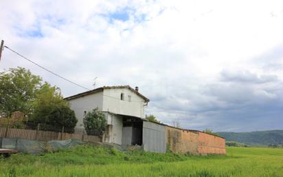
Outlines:
[[227,156],[185,156],[79,146],[1,158],[0,176],[283,176],[283,149],[227,147]]

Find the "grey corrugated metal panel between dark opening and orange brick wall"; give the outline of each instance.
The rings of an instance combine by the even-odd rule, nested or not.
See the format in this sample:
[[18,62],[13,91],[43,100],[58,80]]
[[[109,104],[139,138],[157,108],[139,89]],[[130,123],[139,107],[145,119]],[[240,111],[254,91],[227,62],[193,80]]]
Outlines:
[[166,152],[165,126],[144,121],[142,131],[144,150],[148,152]]

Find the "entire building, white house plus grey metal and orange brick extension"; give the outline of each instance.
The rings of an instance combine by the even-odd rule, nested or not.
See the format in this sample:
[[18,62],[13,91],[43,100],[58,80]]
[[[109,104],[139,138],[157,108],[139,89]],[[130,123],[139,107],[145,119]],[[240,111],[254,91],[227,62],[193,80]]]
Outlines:
[[148,152],[166,153],[167,147],[172,147],[174,152],[225,154],[223,138],[146,120],[144,107],[149,99],[139,93],[138,87],[104,86],[65,99],[78,118],[77,128],[84,127],[88,111],[98,107],[104,112],[107,129],[102,142],[140,145]]

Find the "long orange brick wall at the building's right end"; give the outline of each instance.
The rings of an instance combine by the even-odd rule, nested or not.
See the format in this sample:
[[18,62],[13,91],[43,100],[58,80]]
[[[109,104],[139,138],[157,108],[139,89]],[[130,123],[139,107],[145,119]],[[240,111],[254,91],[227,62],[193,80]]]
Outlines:
[[166,145],[181,154],[226,154],[225,138],[166,126]]

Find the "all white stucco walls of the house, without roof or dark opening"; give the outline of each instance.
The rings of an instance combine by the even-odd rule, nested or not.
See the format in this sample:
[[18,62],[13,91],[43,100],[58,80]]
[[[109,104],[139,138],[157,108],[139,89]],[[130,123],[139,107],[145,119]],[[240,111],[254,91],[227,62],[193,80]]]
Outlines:
[[[121,93],[124,93],[124,100],[121,100]],[[128,100],[128,96],[131,96],[131,101]],[[74,98],[69,100],[69,103],[71,110],[78,118],[76,128],[84,127],[84,112],[98,107],[106,114],[109,125],[109,136],[106,138],[106,143],[122,144],[123,118],[117,114],[144,118],[144,99],[128,88],[104,89],[103,92]]]

